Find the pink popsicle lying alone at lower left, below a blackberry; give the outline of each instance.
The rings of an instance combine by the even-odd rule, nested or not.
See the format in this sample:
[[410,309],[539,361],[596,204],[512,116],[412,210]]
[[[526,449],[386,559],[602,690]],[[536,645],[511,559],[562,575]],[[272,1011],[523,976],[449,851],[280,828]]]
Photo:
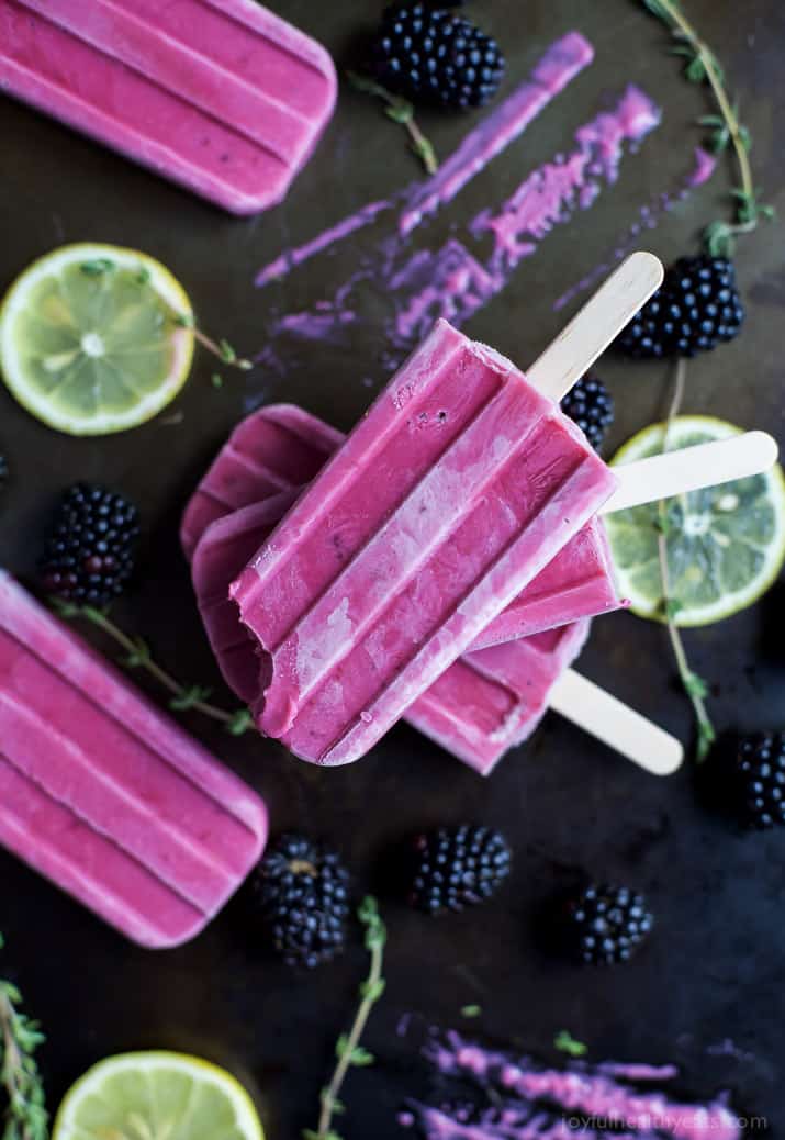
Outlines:
[[193,938],[262,800],[0,570],[0,844],[132,940]]

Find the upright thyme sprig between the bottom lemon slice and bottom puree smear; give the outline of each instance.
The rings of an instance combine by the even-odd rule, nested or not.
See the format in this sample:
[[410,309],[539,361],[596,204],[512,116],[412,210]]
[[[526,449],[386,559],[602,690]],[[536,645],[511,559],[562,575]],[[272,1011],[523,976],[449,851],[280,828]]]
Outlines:
[[337,1065],[328,1085],[321,1090],[321,1112],[316,1131],[305,1129],[303,1140],[341,1140],[340,1133],[333,1127],[333,1117],[345,1112],[338,1099],[341,1089],[350,1068],[365,1068],[374,1064],[374,1054],[365,1049],[360,1041],[374,1005],[382,997],[386,983],[383,977],[384,946],[387,931],[378,912],[376,899],[370,896],[363,899],[358,910],[358,918],[365,927],[365,945],[370,954],[368,977],[360,986],[360,1004],[354,1017],[354,1024],[349,1033],[342,1033],[335,1047]]

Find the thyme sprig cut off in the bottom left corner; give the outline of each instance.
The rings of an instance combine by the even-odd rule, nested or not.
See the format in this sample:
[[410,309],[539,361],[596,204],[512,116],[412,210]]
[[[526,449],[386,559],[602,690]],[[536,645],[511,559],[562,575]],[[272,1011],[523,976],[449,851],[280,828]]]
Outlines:
[[49,1114],[35,1060],[44,1037],[21,1007],[17,987],[0,979],[0,1089],[7,1101],[0,1106],[2,1140],[47,1140]]

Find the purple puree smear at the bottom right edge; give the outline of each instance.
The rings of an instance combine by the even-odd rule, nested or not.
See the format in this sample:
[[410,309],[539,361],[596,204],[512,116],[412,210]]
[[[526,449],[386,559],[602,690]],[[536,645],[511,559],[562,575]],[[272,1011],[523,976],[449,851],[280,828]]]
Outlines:
[[[697,1105],[670,1093],[674,1066],[546,1066],[486,1049],[458,1033],[434,1035],[425,1056],[439,1074],[475,1090],[471,1101],[411,1101],[399,1116],[426,1140],[738,1140],[743,1124],[725,1093]],[[480,1100],[481,1104],[476,1101]]]

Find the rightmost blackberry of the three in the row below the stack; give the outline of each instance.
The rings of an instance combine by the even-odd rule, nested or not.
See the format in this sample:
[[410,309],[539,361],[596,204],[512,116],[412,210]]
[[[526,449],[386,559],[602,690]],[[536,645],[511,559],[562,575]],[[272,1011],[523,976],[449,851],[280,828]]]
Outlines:
[[646,939],[654,918],[627,887],[590,885],[567,895],[558,912],[563,948],[580,962],[625,962]]

